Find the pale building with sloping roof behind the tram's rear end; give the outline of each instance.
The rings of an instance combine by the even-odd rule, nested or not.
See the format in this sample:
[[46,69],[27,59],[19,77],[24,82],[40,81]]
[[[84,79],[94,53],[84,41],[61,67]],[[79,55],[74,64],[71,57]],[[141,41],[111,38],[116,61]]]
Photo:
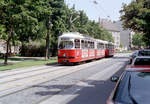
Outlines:
[[100,19],[99,25],[112,34],[116,49],[120,49],[120,29],[114,22],[108,19]]

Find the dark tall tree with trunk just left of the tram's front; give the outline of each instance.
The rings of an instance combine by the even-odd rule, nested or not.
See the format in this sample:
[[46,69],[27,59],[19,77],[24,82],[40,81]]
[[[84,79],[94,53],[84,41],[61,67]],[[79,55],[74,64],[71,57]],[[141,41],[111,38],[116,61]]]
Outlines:
[[52,56],[57,55],[57,43],[58,43],[58,36],[60,36],[63,32],[67,31],[67,26],[66,26],[66,11],[67,11],[67,6],[64,3],[64,0],[51,0],[50,6],[52,8],[52,15],[50,16],[51,18],[51,23],[53,26],[51,27],[51,53]]

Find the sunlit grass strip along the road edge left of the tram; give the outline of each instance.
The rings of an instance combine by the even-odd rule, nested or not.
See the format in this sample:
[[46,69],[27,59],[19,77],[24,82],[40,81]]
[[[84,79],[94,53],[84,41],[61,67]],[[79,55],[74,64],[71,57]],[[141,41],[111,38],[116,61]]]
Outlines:
[[17,63],[8,63],[8,65],[1,65],[0,71],[5,70],[12,70],[16,68],[22,68],[22,67],[31,67],[31,66],[39,66],[39,65],[48,65],[51,63],[57,63],[57,60],[31,60],[31,61],[23,61],[23,62],[17,62]]

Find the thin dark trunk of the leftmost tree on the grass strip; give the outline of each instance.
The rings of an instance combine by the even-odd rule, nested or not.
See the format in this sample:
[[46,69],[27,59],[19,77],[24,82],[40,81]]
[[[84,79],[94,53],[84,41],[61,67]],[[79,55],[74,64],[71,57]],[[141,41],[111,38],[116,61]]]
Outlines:
[[7,40],[7,47],[6,47],[6,53],[5,53],[5,60],[4,60],[4,64],[7,64],[7,60],[8,60],[8,53],[9,53],[9,47],[10,47],[10,40],[12,38],[12,34],[13,33],[13,28],[10,28],[10,32],[8,34],[8,40]]

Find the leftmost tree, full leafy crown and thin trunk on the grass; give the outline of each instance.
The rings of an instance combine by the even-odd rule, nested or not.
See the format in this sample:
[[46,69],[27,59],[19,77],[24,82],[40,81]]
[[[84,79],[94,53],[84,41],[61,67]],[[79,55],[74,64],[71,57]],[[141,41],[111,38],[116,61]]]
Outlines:
[[3,39],[7,43],[4,64],[7,64],[12,39],[29,41],[37,37],[38,21],[31,15],[31,9],[28,9],[30,2],[30,0],[0,1],[0,24],[6,29]]

